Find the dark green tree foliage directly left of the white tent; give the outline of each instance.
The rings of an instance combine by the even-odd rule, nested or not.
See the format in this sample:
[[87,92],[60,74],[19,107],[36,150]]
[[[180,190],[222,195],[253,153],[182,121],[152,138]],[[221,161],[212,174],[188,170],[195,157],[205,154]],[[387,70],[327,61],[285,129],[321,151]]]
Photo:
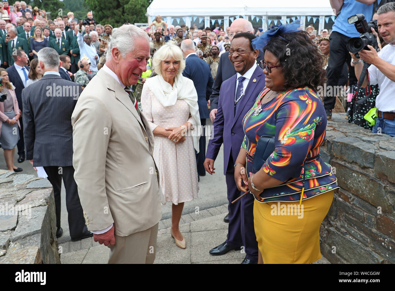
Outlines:
[[102,25],[119,27],[125,22],[147,22],[148,0],[85,0],[93,17]]

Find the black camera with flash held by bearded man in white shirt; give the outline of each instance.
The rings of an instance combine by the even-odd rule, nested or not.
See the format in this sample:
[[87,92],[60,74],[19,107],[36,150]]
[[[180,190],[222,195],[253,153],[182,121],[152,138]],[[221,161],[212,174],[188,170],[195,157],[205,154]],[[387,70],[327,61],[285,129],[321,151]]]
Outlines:
[[372,34],[371,28],[378,33],[377,20],[370,21],[369,23],[365,20],[365,15],[355,14],[348,17],[348,23],[355,25],[357,31],[361,34],[359,37],[352,37],[347,42],[347,49],[351,53],[354,53],[357,58],[359,58],[358,53],[362,49],[369,50],[368,45],[372,46],[374,49],[378,49],[377,38]]

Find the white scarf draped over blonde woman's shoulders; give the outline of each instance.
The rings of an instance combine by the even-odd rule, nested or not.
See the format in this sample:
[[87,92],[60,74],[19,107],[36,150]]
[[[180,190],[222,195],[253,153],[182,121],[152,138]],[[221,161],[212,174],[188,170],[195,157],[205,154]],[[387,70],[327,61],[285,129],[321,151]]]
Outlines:
[[147,78],[145,84],[149,86],[156,99],[164,107],[175,105],[177,99],[184,100],[189,105],[189,110],[195,123],[191,135],[194,139],[195,150],[199,152],[200,135],[198,136],[198,133],[201,132],[201,124],[198,93],[196,93],[193,81],[179,73],[174,78],[173,87],[167,83],[162,76],[159,75],[152,78]]

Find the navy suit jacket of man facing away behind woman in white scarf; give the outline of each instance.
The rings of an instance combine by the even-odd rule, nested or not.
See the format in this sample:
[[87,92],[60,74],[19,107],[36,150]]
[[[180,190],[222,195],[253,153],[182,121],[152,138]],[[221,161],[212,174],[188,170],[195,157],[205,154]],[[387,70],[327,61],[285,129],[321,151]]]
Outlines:
[[196,92],[198,92],[200,118],[209,118],[207,101],[210,98],[211,87],[214,83],[210,65],[197,55],[190,55],[185,60],[185,69],[182,75],[194,81]]

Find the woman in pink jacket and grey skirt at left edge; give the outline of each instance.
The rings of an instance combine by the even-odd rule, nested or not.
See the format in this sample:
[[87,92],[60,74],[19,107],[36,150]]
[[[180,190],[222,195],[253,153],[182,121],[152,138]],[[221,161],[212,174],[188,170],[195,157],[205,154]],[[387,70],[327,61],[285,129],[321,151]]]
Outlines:
[[15,167],[15,146],[19,140],[21,125],[19,118],[21,111],[14,91],[15,87],[9,82],[8,72],[0,68],[0,142],[4,149],[4,159],[9,171],[20,172],[21,168]]

